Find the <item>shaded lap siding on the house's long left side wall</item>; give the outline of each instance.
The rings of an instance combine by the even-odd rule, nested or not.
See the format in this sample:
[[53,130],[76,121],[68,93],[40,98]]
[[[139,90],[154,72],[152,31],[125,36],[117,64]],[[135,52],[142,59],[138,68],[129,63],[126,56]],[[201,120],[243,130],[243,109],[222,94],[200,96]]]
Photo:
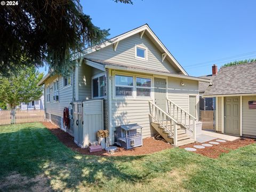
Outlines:
[[[59,78],[59,101],[54,101],[53,100],[53,81]],[[47,102],[46,99],[46,86],[50,84],[50,102]],[[46,82],[45,82],[45,87],[44,87],[44,93],[45,93],[45,111],[46,113],[53,114],[55,116],[63,117],[63,109],[64,107],[70,107],[70,102],[73,101],[73,84],[69,87],[65,87],[63,89],[63,78],[61,76],[53,76],[50,77]]]

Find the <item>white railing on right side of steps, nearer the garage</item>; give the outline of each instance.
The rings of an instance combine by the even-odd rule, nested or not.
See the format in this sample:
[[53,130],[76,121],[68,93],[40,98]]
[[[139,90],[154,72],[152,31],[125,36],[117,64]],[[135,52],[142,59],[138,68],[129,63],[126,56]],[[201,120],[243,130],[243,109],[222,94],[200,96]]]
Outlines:
[[186,110],[179,107],[170,99],[166,98],[166,101],[168,114],[173,117],[179,124],[183,125],[183,127],[192,132],[193,138],[196,140],[196,117],[189,114]]

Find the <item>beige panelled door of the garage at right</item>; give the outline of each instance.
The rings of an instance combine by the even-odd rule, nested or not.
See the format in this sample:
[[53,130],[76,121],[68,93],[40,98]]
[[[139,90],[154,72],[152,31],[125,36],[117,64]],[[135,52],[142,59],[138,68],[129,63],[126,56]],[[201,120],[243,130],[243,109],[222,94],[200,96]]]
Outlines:
[[225,98],[225,133],[240,133],[240,103],[239,97]]

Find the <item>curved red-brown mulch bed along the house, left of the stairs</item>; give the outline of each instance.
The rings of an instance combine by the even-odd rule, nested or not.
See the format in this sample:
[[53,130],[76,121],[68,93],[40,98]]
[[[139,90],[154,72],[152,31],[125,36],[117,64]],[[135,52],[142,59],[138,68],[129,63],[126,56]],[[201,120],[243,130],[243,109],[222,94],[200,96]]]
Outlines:
[[106,150],[90,153],[88,149],[82,149],[78,147],[76,143],[74,143],[74,137],[72,137],[65,131],[62,131],[57,126],[49,122],[42,122],[42,124],[45,127],[47,127],[47,129],[49,129],[52,132],[52,134],[54,134],[68,148],[84,155],[98,155],[98,156],[145,155],[145,154],[155,153],[157,151],[161,151],[164,149],[172,148],[172,146],[169,143],[166,143],[164,141],[155,140],[153,138],[146,138],[146,139],[143,139],[142,147],[136,147],[133,149],[124,149],[124,148],[118,147],[117,151],[115,151],[115,153],[111,155],[106,153]]

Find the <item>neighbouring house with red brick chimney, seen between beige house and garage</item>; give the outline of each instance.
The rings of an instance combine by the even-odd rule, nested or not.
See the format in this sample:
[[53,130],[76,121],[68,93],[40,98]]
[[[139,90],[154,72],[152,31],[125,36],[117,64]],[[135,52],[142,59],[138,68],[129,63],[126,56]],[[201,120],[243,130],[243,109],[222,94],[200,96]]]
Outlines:
[[[218,73],[218,67],[216,65],[212,66],[212,74],[211,75],[205,75],[200,76],[201,78],[207,78],[211,81],[213,80],[213,77]],[[203,94],[206,90],[206,88],[210,85],[210,83],[207,82],[199,82],[199,109],[200,110],[215,110],[216,109],[216,98],[203,98]]]

